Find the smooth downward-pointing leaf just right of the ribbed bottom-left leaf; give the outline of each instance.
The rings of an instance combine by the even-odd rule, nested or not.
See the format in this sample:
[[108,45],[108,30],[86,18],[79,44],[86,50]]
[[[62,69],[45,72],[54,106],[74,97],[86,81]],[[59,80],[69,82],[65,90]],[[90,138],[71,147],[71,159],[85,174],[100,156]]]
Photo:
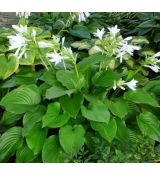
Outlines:
[[24,132],[24,135],[27,145],[33,151],[34,155],[39,154],[46,139],[47,130],[42,129],[41,123],[37,123],[31,130]]

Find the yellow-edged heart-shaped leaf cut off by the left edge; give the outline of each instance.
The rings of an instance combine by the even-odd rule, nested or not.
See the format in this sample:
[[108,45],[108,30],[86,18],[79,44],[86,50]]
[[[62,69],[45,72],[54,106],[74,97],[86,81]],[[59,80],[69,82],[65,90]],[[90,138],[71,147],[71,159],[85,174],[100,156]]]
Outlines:
[[19,61],[13,55],[9,55],[9,57],[6,58],[4,55],[1,54],[0,65],[0,79],[4,80],[18,69]]

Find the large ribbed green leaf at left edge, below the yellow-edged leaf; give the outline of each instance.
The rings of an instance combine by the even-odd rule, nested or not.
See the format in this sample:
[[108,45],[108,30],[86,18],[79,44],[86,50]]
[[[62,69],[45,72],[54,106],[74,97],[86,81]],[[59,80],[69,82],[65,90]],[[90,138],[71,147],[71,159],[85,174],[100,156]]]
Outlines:
[[7,93],[0,102],[7,111],[22,114],[39,104],[41,96],[36,85],[22,85]]

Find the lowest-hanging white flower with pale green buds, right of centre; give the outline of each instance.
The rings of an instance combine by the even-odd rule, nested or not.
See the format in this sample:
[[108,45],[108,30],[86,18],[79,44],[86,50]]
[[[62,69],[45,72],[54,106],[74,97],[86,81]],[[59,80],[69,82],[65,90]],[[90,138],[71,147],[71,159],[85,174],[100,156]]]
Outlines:
[[118,81],[114,81],[113,89],[116,90],[117,87],[119,87],[120,89],[125,90],[124,86],[128,86],[131,90],[135,91],[137,87],[137,83],[138,81],[135,79],[132,79],[131,81],[127,83],[124,80],[120,79]]

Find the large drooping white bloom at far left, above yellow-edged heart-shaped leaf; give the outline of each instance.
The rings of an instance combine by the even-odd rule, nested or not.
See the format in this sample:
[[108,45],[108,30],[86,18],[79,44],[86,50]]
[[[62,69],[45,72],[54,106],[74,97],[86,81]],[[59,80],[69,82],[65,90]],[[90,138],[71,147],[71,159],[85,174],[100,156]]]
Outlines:
[[20,59],[23,54],[25,54],[28,40],[21,34],[11,35],[8,36],[8,38],[10,44],[9,50],[17,49],[14,55],[16,58]]

